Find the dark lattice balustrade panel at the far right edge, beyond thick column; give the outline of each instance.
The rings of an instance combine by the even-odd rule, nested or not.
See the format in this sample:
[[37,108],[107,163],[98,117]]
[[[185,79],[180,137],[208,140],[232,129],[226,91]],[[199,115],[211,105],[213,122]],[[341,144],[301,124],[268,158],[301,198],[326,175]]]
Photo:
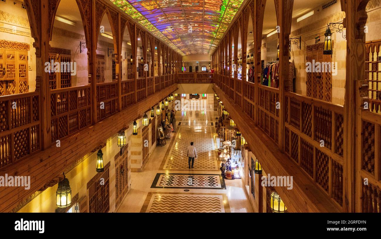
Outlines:
[[363,110],[361,118],[361,211],[381,212],[381,115]]

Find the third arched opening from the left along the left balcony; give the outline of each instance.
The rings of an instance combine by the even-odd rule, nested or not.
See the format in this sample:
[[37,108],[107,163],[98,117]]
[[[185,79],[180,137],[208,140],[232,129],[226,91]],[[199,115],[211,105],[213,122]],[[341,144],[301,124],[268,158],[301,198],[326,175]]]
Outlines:
[[96,83],[112,82],[117,80],[117,48],[115,35],[109,21],[107,11],[103,14],[99,25],[97,49],[96,49]]

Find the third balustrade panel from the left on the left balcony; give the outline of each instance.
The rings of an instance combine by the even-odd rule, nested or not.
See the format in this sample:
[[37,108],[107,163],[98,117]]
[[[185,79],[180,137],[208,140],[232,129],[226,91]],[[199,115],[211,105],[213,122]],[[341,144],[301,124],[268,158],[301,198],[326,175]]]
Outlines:
[[[105,82],[96,85],[97,121],[118,112],[118,82]],[[102,104],[101,104],[102,103]]]

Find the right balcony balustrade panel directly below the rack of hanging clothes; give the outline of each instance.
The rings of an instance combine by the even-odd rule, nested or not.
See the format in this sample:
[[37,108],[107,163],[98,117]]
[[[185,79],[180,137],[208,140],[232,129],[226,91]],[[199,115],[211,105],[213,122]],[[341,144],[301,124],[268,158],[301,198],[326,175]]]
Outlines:
[[[248,91],[254,92],[254,84],[248,83]],[[249,94],[250,96],[251,94]],[[271,88],[258,84],[258,126],[272,139],[275,143],[279,142],[279,89]],[[253,111],[255,106],[252,105]],[[255,113],[253,113],[254,115]]]

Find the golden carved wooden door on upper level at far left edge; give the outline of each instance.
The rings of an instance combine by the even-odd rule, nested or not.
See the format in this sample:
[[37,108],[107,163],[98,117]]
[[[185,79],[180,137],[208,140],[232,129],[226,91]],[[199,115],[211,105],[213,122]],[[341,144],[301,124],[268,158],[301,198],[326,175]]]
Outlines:
[[0,49],[0,96],[28,92],[28,52]]

